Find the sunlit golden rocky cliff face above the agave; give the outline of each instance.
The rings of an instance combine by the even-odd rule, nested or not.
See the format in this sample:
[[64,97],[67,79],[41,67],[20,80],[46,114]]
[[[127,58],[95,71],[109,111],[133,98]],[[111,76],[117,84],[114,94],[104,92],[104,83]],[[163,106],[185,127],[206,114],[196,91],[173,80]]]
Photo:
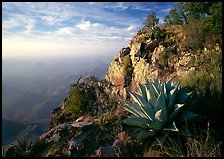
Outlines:
[[[145,83],[156,77],[179,81],[190,71],[195,71],[192,55],[182,49],[184,40],[181,28],[160,29],[165,35],[150,38],[150,31],[139,31],[127,47],[120,50],[111,62],[105,79],[113,84],[113,92],[127,97],[126,90],[138,91],[136,84]],[[130,57],[132,71],[125,73],[125,58]]]

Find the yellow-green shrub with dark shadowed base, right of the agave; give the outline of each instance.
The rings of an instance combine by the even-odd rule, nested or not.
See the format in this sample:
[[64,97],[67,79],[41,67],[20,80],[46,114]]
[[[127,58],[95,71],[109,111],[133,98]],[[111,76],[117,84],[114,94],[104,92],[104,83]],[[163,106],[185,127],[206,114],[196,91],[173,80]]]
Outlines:
[[221,125],[222,74],[214,76],[207,71],[189,73],[181,81],[182,85],[194,92],[197,98],[194,111],[207,116],[211,124]]

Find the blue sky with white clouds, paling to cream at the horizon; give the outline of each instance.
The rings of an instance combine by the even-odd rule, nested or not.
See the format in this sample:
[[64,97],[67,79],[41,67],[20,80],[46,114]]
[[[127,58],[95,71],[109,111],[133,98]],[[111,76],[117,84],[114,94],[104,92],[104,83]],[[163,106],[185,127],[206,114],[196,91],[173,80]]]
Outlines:
[[3,2],[2,57],[114,56],[176,2]]

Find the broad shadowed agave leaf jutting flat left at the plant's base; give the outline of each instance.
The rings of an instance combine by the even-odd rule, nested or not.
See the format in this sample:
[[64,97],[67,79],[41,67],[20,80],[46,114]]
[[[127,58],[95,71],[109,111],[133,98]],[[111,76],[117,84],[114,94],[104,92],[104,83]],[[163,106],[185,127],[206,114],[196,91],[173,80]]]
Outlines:
[[125,118],[123,120],[123,123],[127,125],[141,127],[141,128],[149,128],[148,124],[150,123],[150,120],[146,118],[139,118],[139,117]]

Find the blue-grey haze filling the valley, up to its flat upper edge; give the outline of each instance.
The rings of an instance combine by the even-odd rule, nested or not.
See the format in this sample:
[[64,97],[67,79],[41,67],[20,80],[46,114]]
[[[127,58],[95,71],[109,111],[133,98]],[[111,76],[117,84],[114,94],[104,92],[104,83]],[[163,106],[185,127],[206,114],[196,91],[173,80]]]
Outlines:
[[[46,129],[51,111],[82,75],[104,78],[110,59],[4,59],[2,70],[3,144],[36,136]],[[9,133],[10,132],[10,133]]]

